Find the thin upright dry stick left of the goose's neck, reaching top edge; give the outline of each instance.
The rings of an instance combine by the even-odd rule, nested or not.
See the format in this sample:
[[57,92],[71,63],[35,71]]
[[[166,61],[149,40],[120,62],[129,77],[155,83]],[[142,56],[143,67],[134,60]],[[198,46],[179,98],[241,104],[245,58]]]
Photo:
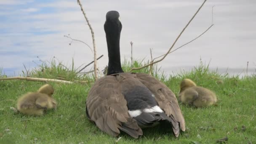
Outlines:
[[97,55],[96,55],[96,45],[95,45],[95,39],[94,39],[94,32],[93,32],[93,28],[91,27],[91,24],[89,23],[89,20],[87,19],[85,12],[83,11],[83,6],[80,3],[80,0],[77,0],[77,3],[80,5],[81,11],[83,12],[83,16],[85,17],[85,20],[91,30],[91,37],[93,39],[93,51],[94,51],[94,80],[98,80],[98,73],[97,73]]

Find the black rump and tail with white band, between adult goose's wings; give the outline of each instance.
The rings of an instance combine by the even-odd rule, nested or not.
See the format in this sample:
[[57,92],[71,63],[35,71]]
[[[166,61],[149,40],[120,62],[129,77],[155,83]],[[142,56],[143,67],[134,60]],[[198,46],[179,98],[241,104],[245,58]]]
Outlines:
[[161,121],[171,125],[171,118],[167,117],[158,106],[155,95],[146,87],[134,86],[130,91],[123,93],[127,101],[128,113],[141,128],[152,127]]

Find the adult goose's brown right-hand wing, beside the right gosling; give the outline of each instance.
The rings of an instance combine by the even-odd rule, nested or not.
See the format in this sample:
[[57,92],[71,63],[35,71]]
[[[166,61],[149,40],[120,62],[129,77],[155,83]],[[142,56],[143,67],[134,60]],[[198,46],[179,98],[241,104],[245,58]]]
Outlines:
[[[174,121],[173,130],[175,135],[178,134],[178,129],[185,131],[185,121],[181,113],[179,103],[175,94],[163,83],[151,75],[137,73],[137,78],[143,83],[154,95],[159,107],[165,111],[168,117]],[[175,124],[176,123],[176,124]],[[177,125],[177,123],[179,125]]]

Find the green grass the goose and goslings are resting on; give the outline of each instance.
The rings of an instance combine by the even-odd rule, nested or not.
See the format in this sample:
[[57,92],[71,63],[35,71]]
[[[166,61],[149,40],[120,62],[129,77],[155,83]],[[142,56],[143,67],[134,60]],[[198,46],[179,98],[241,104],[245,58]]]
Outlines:
[[[143,61],[135,61],[139,67]],[[125,61],[123,69],[128,71],[131,64]],[[43,70],[42,70],[43,69]],[[2,69],[0,69],[1,75]],[[87,75],[75,75],[72,65],[67,68],[51,61],[30,72],[31,77],[56,78],[65,80],[90,80]],[[139,72],[149,72],[141,69]],[[25,74],[24,74],[25,75]],[[256,76],[228,77],[210,72],[208,65],[200,63],[190,72],[181,72],[169,78],[153,67],[153,75],[162,80],[177,95],[183,78],[191,78],[197,85],[209,88],[218,96],[217,106],[195,109],[180,105],[187,130],[178,138],[171,133],[162,133],[155,128],[144,130],[144,135],[133,139],[125,133],[118,143],[131,144],[211,144],[228,137],[230,144],[256,143]],[[0,76],[1,77],[1,76]],[[43,83],[8,80],[0,81],[0,144],[113,144],[117,138],[103,133],[85,115],[85,100],[93,83],[58,84],[54,98],[58,101],[57,111],[49,111],[41,117],[14,114],[10,107],[16,107],[16,99],[29,91],[37,91]],[[245,126],[245,130],[242,126]]]

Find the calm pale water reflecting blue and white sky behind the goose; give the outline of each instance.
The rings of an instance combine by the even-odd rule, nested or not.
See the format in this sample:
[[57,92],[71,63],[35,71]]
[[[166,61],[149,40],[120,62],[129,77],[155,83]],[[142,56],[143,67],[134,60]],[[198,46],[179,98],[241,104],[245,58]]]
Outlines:
[[[107,65],[107,43],[104,21],[107,11],[120,13],[123,24],[120,41],[122,61],[133,58],[149,59],[162,55],[171,46],[203,0],[81,0],[95,33],[97,55],[104,54],[98,63]],[[200,35],[202,37],[168,55],[158,65],[171,73],[173,67],[185,68],[202,61],[210,67],[245,69],[256,68],[256,1],[208,0],[175,47]],[[55,56],[65,64],[88,64],[93,54],[86,45],[67,37],[83,40],[91,47],[91,32],[76,0],[0,0],[0,67],[13,75],[21,72],[23,64],[35,67]]]

